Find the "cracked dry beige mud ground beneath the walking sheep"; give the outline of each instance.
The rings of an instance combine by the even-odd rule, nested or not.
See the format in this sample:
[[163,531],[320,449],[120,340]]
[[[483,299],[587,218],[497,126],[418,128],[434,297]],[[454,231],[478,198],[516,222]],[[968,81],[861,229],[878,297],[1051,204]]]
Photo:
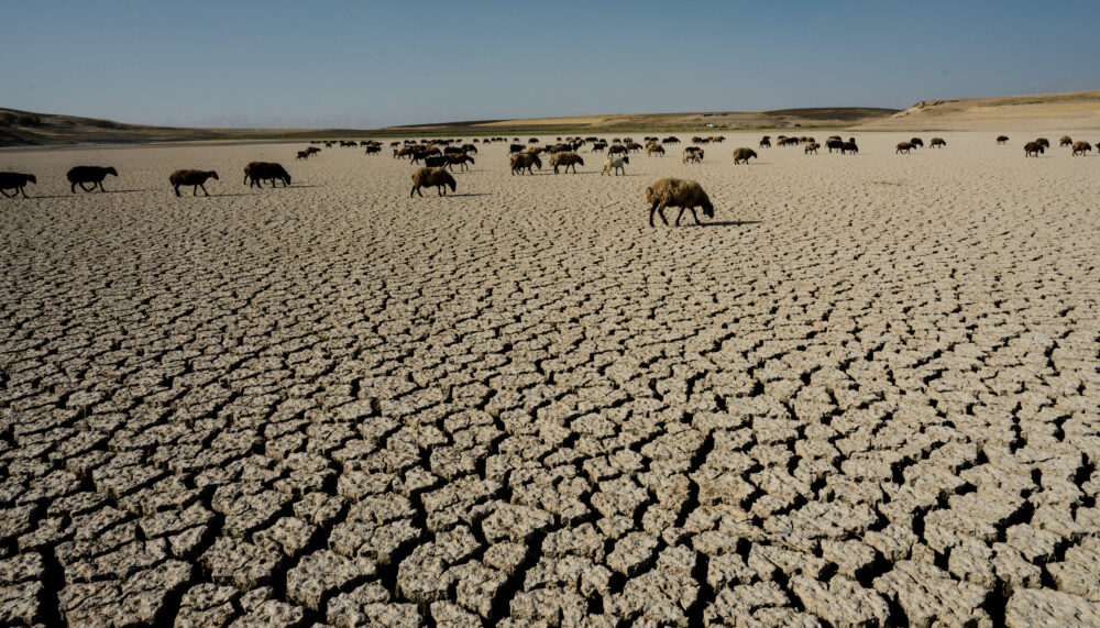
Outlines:
[[[413,201],[6,155],[0,624],[1100,623],[1100,162],[895,140]],[[644,227],[666,175],[717,223]]]

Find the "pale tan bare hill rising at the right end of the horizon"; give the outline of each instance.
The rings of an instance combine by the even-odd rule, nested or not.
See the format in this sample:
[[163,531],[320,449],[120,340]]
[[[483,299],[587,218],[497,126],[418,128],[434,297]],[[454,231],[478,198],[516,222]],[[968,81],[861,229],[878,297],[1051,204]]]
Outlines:
[[1100,129],[1100,91],[922,100],[866,130]]

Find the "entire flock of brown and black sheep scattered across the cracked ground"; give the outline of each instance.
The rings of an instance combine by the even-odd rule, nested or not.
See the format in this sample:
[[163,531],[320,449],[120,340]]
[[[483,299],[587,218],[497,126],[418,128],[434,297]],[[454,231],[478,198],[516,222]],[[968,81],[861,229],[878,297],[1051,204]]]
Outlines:
[[[601,174],[615,175],[626,174],[626,165],[630,163],[630,155],[636,153],[645,152],[649,156],[664,156],[666,147],[680,144],[680,140],[675,136],[669,136],[664,139],[659,139],[656,136],[645,137],[645,144],[635,142],[631,137],[615,137],[610,142],[601,137],[558,137],[557,143],[546,146],[540,144],[540,142],[531,137],[527,144],[520,143],[519,137],[513,140],[513,143],[508,147],[508,165],[512,169],[513,175],[522,174],[534,174],[532,168],[542,169],[542,159],[540,155],[546,155],[548,157],[549,165],[553,167],[554,174],[568,173],[572,168],[573,173],[576,173],[576,166],[584,165],[584,158],[581,156],[580,150],[583,146],[587,146],[588,153],[602,153],[606,155],[603,164],[603,169]],[[693,145],[688,146],[683,150],[683,163],[700,163],[703,161],[705,150],[703,146],[712,143],[722,143],[725,137],[722,135],[717,136],[695,136],[691,139]],[[1009,137],[1007,135],[999,135],[997,137],[997,144],[1003,145],[1008,143]],[[454,166],[460,166],[461,169],[466,169],[469,166],[474,164],[473,155],[477,154],[477,143],[490,144],[495,142],[507,142],[505,137],[485,137],[481,141],[474,139],[472,143],[460,144],[458,140],[426,140],[426,141],[414,141],[405,140],[404,142],[395,141],[391,143],[393,148],[394,158],[407,158],[413,165],[421,164],[415,173],[413,173],[413,189],[409,191],[409,197],[414,194],[424,196],[420,192],[421,188],[435,187],[439,196],[447,196],[447,188],[451,191],[458,189],[458,184],[454,177],[451,175]],[[367,140],[361,143],[354,141],[314,141],[312,144],[323,144],[326,147],[341,146],[341,147],[365,147],[367,155],[378,155],[382,153],[382,143]],[[453,145],[452,145],[453,144]],[[817,150],[823,145],[818,144],[816,140],[809,136],[801,137],[788,137],[785,135],[778,135],[774,139],[774,145],[777,146],[803,146],[803,151],[809,154],[816,154]],[[1060,147],[1069,146],[1071,148],[1071,155],[1086,155],[1092,150],[1092,146],[1088,142],[1075,142],[1068,135],[1064,135],[1059,139],[1058,145]],[[772,146],[772,137],[770,135],[765,135],[758,145],[758,148],[770,148]],[[919,147],[923,147],[924,142],[920,137],[913,137],[909,141],[900,142],[894,151],[895,154],[908,154]],[[947,142],[942,137],[933,137],[928,142],[930,148],[943,148],[947,146]],[[824,147],[828,150],[829,153],[836,151],[842,155],[844,154],[856,154],[859,152],[859,146],[856,144],[855,137],[849,137],[847,141],[843,140],[839,135],[833,135],[825,140]],[[1050,142],[1045,137],[1038,137],[1032,142],[1027,142],[1024,145],[1024,156],[1025,157],[1037,157],[1043,154],[1045,150],[1050,147]],[[1100,152],[1100,143],[1096,144],[1097,151]],[[317,146],[310,146],[305,151],[298,151],[298,159],[308,159],[315,155],[321,153],[321,148]],[[749,147],[739,147],[733,152],[734,164],[747,164],[750,158],[757,157],[756,151]],[[106,191],[103,188],[103,179],[108,175],[119,176],[119,173],[113,167],[102,167],[102,166],[76,166],[68,170],[67,178],[70,184],[69,189],[76,194],[77,186],[85,191],[94,191],[99,188],[100,191]],[[173,190],[176,196],[180,196],[180,187],[191,187],[191,195],[198,196],[198,189],[202,188],[206,196],[210,196],[210,192],[206,189],[206,183],[209,179],[218,180],[218,173],[213,170],[199,170],[199,169],[180,169],[172,173],[168,176],[168,183],[172,185]],[[258,186],[263,187],[263,183],[267,181],[272,187],[277,187],[278,181],[283,181],[284,186],[290,185],[290,175],[287,173],[280,164],[270,163],[270,162],[252,162],[244,167],[244,181],[249,184],[250,187]],[[8,198],[14,198],[22,195],[23,198],[29,198],[26,196],[26,184],[37,184],[37,179],[32,174],[22,173],[0,173],[0,194]],[[9,190],[12,190],[9,194]],[[646,202],[650,205],[649,210],[649,224],[653,225],[654,213],[661,217],[664,224],[669,221],[664,218],[664,209],[669,207],[679,208],[680,214],[676,217],[675,224],[679,227],[680,219],[683,217],[684,211],[691,211],[692,216],[695,218],[695,223],[698,224],[698,216],[695,213],[695,208],[702,208],[703,214],[707,218],[714,217],[714,205],[711,199],[707,198],[706,192],[703,188],[693,180],[684,180],[676,178],[664,178],[657,183],[648,186],[646,188]]]

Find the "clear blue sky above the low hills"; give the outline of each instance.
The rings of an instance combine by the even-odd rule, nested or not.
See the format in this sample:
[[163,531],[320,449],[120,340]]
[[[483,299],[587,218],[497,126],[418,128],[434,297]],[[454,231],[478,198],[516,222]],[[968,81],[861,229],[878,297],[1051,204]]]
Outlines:
[[1100,88],[1100,1],[0,0],[0,107],[352,126]]

